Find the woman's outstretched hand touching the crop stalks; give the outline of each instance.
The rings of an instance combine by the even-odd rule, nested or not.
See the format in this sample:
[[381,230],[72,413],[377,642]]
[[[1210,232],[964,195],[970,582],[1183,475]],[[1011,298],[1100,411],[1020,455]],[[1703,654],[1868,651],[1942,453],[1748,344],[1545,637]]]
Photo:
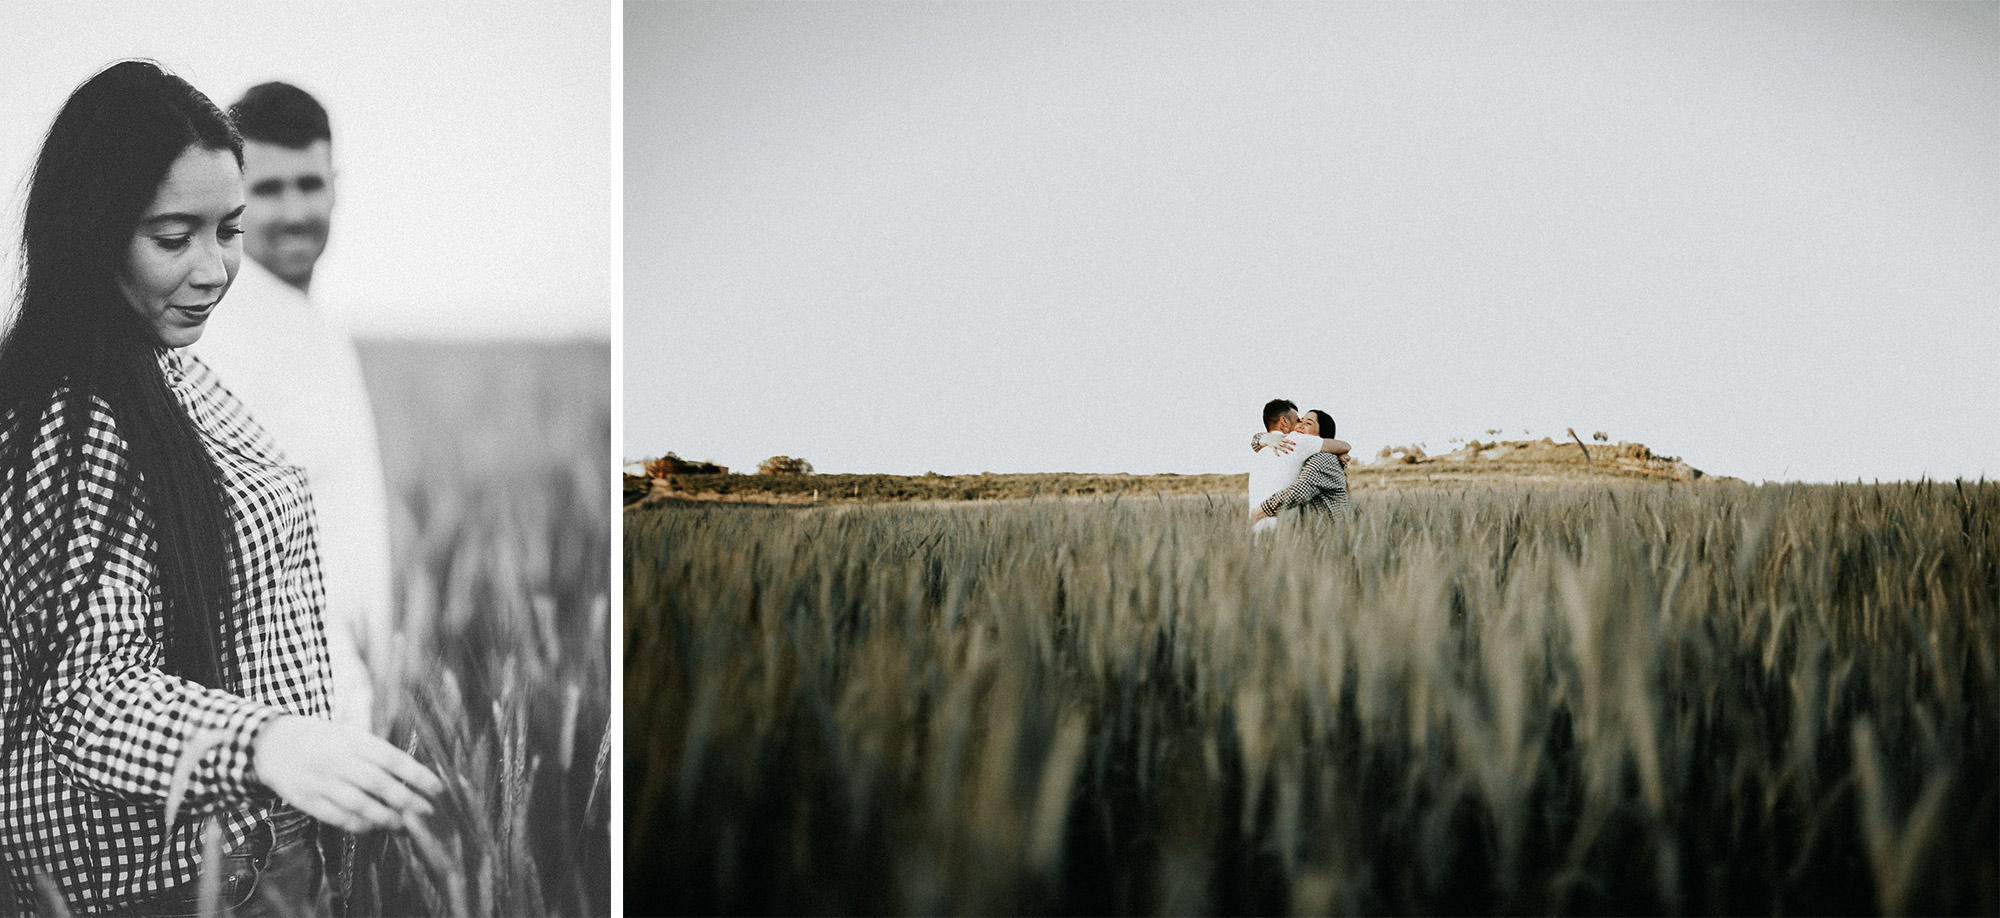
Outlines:
[[252,744],[258,780],[306,816],[372,832],[430,816],[444,782],[382,738],[330,720],[286,714]]

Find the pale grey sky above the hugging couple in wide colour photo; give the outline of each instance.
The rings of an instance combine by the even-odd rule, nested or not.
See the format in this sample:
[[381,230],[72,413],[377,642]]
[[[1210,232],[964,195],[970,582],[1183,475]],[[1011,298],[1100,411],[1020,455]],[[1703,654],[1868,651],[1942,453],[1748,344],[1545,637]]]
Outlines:
[[626,4],[624,454],[2000,478],[1996,10]]

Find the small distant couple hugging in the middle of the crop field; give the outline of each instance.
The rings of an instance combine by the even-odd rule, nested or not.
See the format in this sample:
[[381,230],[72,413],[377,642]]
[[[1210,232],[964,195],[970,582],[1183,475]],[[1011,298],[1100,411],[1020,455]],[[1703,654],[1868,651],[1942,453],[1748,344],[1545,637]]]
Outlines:
[[1348,444],[1334,440],[1334,418],[1298,414],[1284,398],[1264,404],[1264,432],[1250,438],[1250,532],[1274,532],[1292,508],[1316,520],[1348,512]]

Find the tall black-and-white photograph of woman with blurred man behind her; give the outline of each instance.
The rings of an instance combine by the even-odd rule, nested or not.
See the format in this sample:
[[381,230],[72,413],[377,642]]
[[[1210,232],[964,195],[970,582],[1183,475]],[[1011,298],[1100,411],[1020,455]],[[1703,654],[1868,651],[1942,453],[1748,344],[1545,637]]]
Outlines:
[[0,8],[0,914],[612,912],[614,14]]

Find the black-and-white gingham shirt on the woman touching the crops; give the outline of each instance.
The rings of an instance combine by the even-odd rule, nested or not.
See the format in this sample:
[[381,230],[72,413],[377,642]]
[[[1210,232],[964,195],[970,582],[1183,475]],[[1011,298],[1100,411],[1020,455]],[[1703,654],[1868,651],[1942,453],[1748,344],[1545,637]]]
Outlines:
[[[36,444],[28,478],[0,480],[0,710],[16,710],[26,692],[20,642],[32,640],[30,622],[56,622],[68,634],[42,696],[26,700],[28,730],[0,762],[0,880],[10,886],[0,892],[12,892],[0,908],[10,912],[36,908],[36,872],[76,912],[120,910],[194,880],[202,824],[216,820],[228,850],[276,800],[252,772],[258,730],[284,712],[330,714],[304,472],[282,460],[208,366],[174,350],[158,358],[222,470],[234,528],[230,686],[204,688],[162,670],[152,524],[144,500],[118,500],[140,482],[106,404],[90,404],[82,462],[60,462],[54,446],[66,392],[38,426],[8,424],[14,434],[32,430]],[[64,482],[74,482],[68,498]],[[56,552],[52,564],[28,562],[36,546]],[[168,826],[166,800],[186,752],[192,772]]]

